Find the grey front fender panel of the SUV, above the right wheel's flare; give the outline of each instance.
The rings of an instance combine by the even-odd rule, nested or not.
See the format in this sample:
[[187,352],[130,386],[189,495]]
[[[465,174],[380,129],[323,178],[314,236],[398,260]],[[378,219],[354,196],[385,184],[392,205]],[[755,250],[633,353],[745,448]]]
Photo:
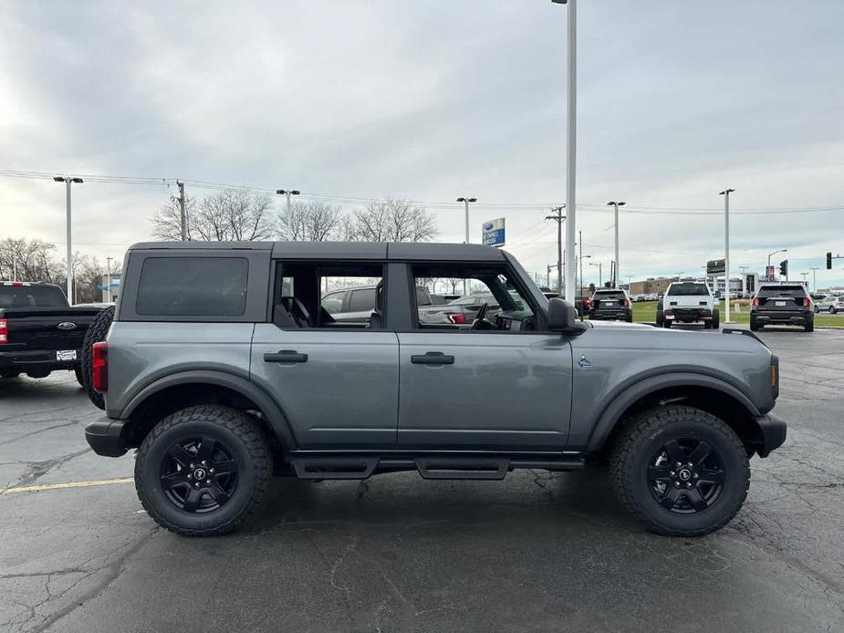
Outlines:
[[569,445],[585,446],[603,411],[625,389],[657,375],[703,374],[773,407],[771,352],[752,337],[593,324],[571,341],[574,361]]

